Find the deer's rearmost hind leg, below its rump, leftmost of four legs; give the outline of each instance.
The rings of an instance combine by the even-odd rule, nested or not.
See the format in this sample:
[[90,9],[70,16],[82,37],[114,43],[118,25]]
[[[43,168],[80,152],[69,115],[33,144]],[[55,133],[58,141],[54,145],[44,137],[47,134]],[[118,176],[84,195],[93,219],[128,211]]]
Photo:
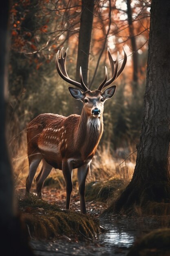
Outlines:
[[33,178],[41,162],[42,155],[38,152],[36,153],[34,152],[31,154],[28,153],[28,159],[29,159],[29,175],[26,178],[26,195],[28,195],[30,192],[30,189],[33,183]]

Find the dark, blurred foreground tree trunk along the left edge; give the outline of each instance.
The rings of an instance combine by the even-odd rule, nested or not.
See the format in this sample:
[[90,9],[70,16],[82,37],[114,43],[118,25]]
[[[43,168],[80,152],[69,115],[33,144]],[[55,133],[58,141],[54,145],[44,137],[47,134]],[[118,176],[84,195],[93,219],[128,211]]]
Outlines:
[[26,233],[17,216],[13,197],[13,175],[6,140],[7,67],[9,53],[9,1],[0,8],[0,254],[31,256]]

